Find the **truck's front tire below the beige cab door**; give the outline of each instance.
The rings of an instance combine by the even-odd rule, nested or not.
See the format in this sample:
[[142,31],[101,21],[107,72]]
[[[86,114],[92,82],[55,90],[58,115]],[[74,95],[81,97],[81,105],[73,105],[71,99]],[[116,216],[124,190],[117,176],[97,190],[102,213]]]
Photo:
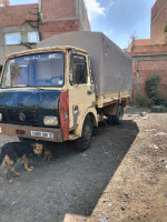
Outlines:
[[86,151],[91,144],[92,140],[92,124],[91,121],[86,118],[84,127],[82,127],[82,133],[81,138],[76,140],[76,145],[78,151]]

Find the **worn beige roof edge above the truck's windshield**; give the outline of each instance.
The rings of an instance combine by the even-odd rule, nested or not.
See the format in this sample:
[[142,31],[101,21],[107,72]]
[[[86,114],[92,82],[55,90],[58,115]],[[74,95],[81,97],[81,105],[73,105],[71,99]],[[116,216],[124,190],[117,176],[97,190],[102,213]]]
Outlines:
[[88,51],[77,48],[77,47],[71,47],[71,46],[58,46],[58,47],[45,47],[45,48],[38,48],[38,49],[30,49],[30,50],[24,50],[20,52],[14,52],[12,54],[8,54],[6,59],[10,59],[13,57],[20,57],[23,54],[33,54],[33,53],[40,53],[40,52],[50,52],[50,51],[65,51],[65,50],[73,50],[73,51],[79,51],[86,54],[89,54]]

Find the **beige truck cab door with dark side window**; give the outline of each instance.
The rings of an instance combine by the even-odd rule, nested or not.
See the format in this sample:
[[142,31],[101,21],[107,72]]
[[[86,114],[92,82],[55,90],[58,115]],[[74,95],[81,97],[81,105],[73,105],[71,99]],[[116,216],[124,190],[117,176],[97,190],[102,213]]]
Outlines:
[[69,127],[76,127],[88,108],[95,105],[91,90],[88,58],[82,53],[70,53],[69,64]]

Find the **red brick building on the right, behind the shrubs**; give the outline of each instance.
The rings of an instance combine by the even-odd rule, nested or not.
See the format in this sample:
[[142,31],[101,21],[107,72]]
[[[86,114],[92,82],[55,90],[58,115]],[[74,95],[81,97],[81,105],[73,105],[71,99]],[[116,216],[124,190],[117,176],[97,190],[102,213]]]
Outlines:
[[157,0],[151,9],[150,39],[132,39],[127,52],[132,57],[132,99],[145,93],[145,80],[161,73],[160,99],[167,100],[167,0]]

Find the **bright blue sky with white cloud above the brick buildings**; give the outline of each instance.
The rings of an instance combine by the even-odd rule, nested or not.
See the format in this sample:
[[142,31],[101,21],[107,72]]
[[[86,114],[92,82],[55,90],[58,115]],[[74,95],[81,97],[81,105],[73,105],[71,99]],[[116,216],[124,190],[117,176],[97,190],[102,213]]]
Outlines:
[[[10,4],[37,3],[38,0],[10,0]],[[150,12],[156,0],[85,0],[91,31],[104,32],[121,49],[131,37],[150,38]]]

